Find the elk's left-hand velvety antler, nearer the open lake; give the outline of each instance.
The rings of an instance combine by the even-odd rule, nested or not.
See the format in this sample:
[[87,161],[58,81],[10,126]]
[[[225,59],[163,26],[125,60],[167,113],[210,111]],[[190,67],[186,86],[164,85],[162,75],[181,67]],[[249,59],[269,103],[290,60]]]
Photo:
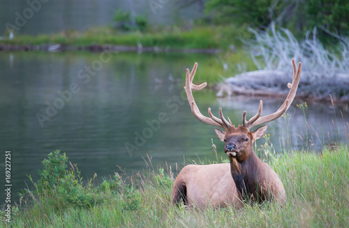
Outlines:
[[188,102],[191,106],[191,112],[198,120],[205,122],[206,124],[210,124],[216,127],[221,127],[223,129],[230,128],[231,125],[227,120],[225,120],[222,113],[222,108],[219,108],[219,116],[221,117],[221,119],[212,115],[211,108],[209,108],[209,116],[211,117],[209,118],[209,117],[205,117],[205,115],[202,115],[200,113],[198,106],[195,104],[192,90],[202,90],[207,85],[207,83],[202,83],[201,85],[193,84],[193,78],[195,76],[195,72],[197,68],[198,68],[198,63],[195,62],[193,70],[191,72],[189,72],[189,69],[186,69],[186,86],[184,87],[184,90],[186,91],[186,97],[188,98]]

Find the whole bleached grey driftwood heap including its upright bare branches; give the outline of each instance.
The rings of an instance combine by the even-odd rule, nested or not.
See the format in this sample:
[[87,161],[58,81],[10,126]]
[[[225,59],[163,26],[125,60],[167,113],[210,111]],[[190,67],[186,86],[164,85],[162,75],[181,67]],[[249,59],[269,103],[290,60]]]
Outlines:
[[[338,39],[336,50],[326,48],[310,32],[304,41],[298,42],[288,29],[276,31],[274,24],[269,31],[258,32],[255,40],[246,42],[258,71],[242,73],[228,78],[220,85],[218,95],[248,94],[256,96],[285,96],[285,85],[290,83],[292,69],[290,59],[302,62],[302,78],[297,97],[317,101],[349,101],[349,37],[331,34]],[[285,84],[286,83],[286,84]]]

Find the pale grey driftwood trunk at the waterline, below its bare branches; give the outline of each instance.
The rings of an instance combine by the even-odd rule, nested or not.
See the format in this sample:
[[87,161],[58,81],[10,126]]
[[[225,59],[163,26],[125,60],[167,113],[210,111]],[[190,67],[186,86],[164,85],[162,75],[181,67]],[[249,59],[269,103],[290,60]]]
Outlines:
[[[305,68],[305,67],[304,67]],[[246,94],[253,96],[285,97],[285,85],[290,83],[291,72],[250,71],[227,78],[224,85],[218,85],[218,94]],[[335,101],[349,101],[349,75],[338,73],[331,78],[314,76],[304,72],[299,82],[297,97],[329,101],[329,94]]]

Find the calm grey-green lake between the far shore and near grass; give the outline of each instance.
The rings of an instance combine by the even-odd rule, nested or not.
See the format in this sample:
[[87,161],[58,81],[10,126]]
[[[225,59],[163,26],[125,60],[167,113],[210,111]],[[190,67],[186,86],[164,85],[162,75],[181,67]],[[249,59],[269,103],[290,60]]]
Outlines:
[[[40,162],[57,149],[66,152],[84,178],[94,173],[100,178],[113,176],[120,173],[118,166],[131,175],[147,168],[147,155],[155,169],[167,165],[175,173],[176,164],[180,170],[184,162],[216,161],[211,138],[218,159],[225,159],[214,127],[196,120],[183,99],[183,82],[168,79],[180,81],[194,62],[216,58],[175,53],[0,52],[0,169],[3,173],[5,151],[10,150],[13,198],[18,199],[15,193],[26,187],[24,181],[29,183],[27,175],[38,180]],[[194,97],[202,113],[211,107],[217,115],[222,107],[235,124],[241,124],[243,111],[251,117],[258,110],[258,98],[216,99],[208,89],[195,92]],[[282,102],[263,98],[262,115],[276,111]],[[305,148],[304,114],[296,106],[302,102],[294,101],[288,111],[288,131],[283,118],[268,124],[276,152],[283,150],[287,132],[292,148]],[[335,109],[331,104],[307,105],[307,131],[313,141],[309,147],[319,150],[322,143],[347,141],[344,104]],[[257,148],[264,143],[260,139]],[[2,186],[4,179],[2,175]]]

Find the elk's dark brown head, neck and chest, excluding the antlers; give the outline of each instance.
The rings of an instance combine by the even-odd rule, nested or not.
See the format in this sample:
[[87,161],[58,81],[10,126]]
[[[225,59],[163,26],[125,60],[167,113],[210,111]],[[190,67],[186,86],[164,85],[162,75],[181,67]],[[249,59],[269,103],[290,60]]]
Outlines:
[[[266,130],[267,125],[252,132],[241,126],[232,126],[226,132],[216,129],[216,133],[221,141],[225,141],[231,175],[242,198],[251,197],[259,202],[275,199],[282,204],[285,201],[285,189],[279,176],[268,164],[262,162],[252,149],[253,141],[261,138]],[[229,149],[229,145],[232,144],[235,148]]]

